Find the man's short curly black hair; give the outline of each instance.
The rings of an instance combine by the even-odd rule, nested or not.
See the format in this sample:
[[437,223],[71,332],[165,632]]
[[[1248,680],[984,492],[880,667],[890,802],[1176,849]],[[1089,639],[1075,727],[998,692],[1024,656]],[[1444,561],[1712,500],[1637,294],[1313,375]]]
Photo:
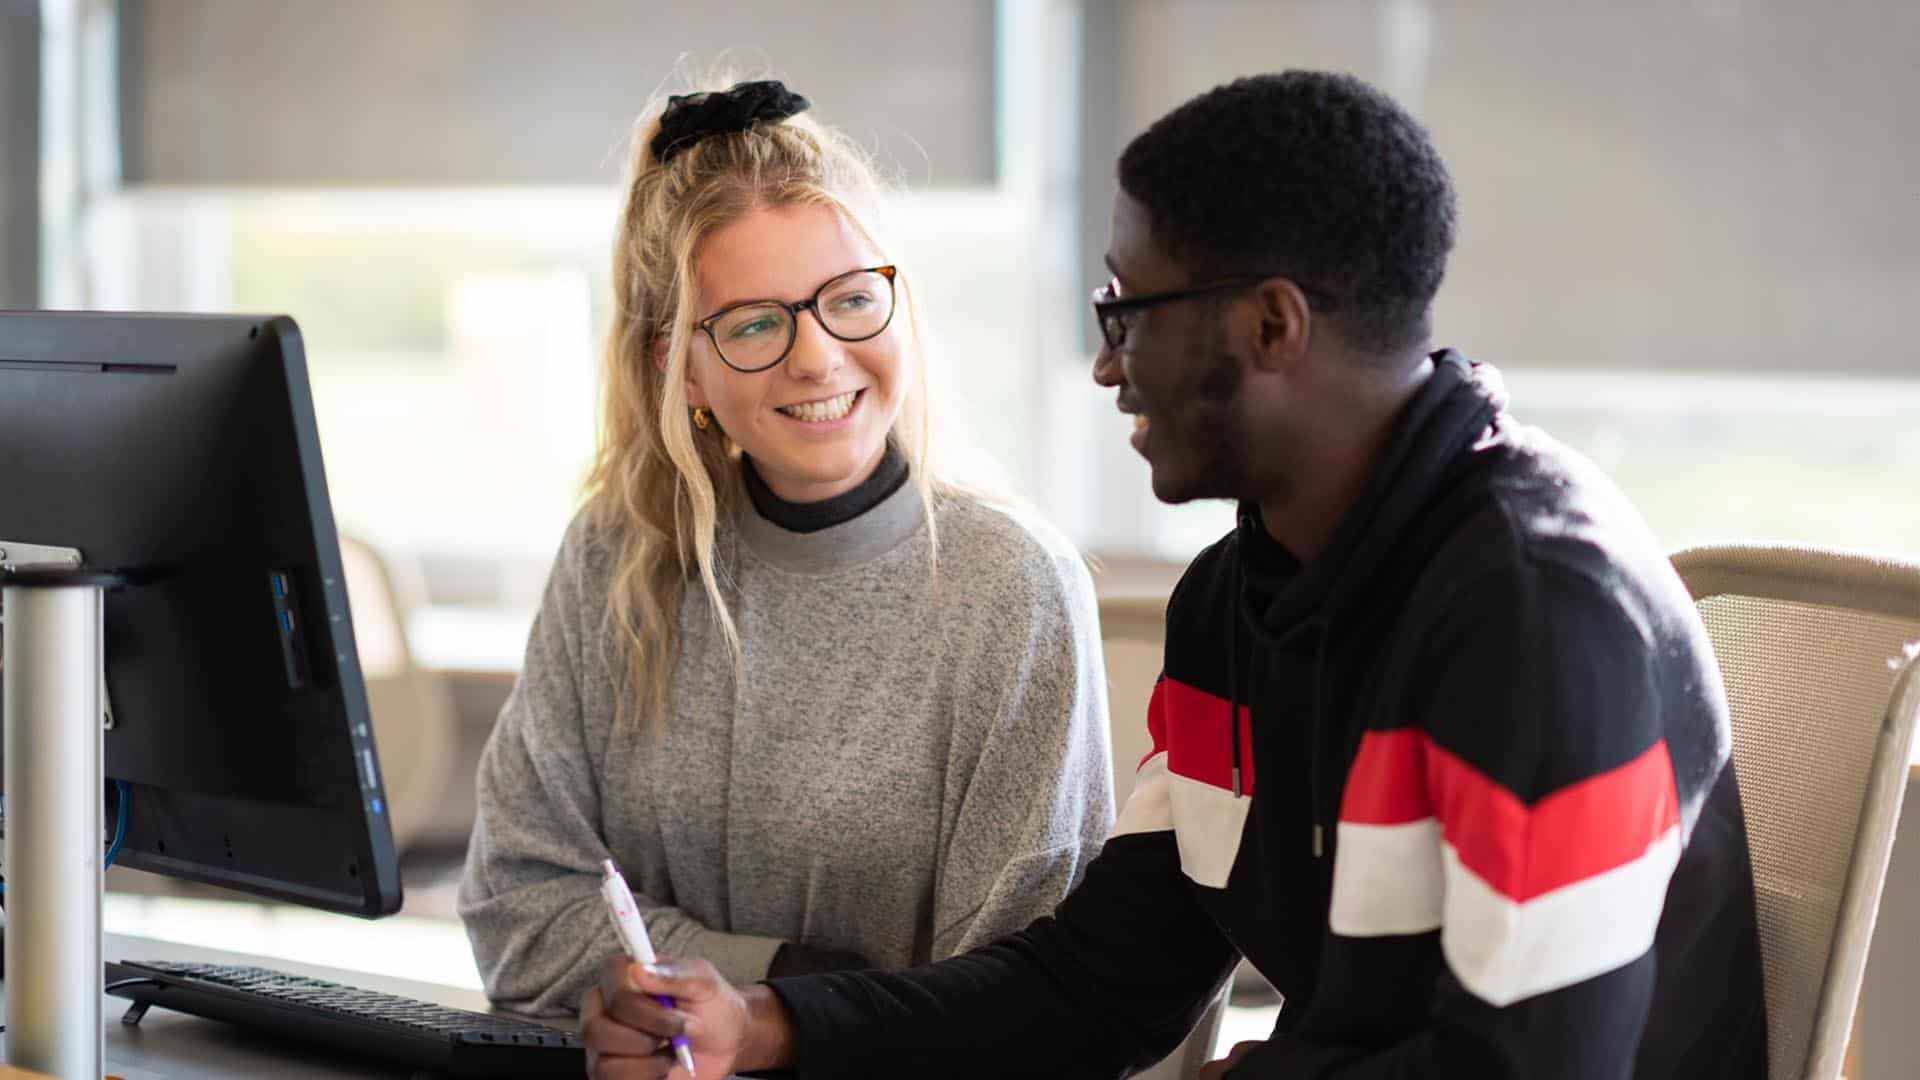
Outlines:
[[1386,94],[1327,71],[1254,75],[1160,117],[1119,186],[1194,277],[1292,279],[1357,350],[1425,344],[1453,248],[1453,184]]

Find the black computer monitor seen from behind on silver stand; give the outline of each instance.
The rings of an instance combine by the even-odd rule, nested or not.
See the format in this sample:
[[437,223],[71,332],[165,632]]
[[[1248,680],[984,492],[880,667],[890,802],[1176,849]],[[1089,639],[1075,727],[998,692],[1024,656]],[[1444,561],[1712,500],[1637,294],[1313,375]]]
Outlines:
[[10,546],[0,561],[67,548],[129,582],[104,603],[117,863],[399,907],[292,319],[0,311]]

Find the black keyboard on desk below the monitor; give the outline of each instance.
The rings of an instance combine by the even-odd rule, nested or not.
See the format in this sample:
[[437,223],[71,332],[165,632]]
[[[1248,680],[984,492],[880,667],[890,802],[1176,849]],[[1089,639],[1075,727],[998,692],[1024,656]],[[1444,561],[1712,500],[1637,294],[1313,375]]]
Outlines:
[[[445,1076],[584,1076],[580,1036],[263,967],[109,963],[109,994]],[[132,1015],[129,1022],[138,1022]]]

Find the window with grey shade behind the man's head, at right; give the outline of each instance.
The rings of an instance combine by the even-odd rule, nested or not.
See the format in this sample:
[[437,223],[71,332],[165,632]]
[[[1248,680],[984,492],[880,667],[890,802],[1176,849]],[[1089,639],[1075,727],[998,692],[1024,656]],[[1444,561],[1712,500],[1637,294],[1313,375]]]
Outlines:
[[[1590,454],[1663,544],[1920,555],[1920,8],[1843,12],[1133,0],[1116,56],[1087,58],[1112,100],[1089,160],[1236,75],[1354,71],[1428,125],[1459,190],[1436,344],[1500,365],[1515,415]],[[1112,171],[1087,179],[1104,208]],[[1231,521],[1144,519],[1173,557]]]

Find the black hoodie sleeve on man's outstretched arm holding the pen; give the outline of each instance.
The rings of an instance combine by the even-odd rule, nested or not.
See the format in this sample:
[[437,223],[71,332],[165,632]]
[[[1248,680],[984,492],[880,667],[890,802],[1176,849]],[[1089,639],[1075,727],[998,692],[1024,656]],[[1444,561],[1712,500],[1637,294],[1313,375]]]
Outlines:
[[900,972],[770,980],[799,1076],[1117,1078],[1171,1053],[1238,951],[1181,871],[1165,788],[1142,769],[1119,834],[1018,934]]

